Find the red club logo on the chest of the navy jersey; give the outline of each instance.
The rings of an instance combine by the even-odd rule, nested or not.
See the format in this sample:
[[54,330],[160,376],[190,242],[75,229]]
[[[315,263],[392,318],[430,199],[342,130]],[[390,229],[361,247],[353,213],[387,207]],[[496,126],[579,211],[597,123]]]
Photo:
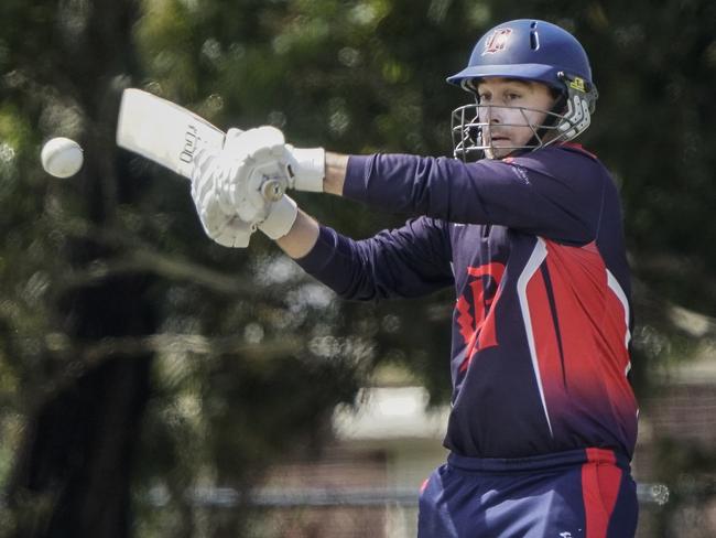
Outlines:
[[480,267],[468,267],[467,273],[474,280],[470,280],[469,290],[460,295],[456,305],[459,313],[457,324],[466,346],[459,372],[467,369],[477,352],[498,345],[495,315],[490,314],[500,297],[505,263],[493,261]]

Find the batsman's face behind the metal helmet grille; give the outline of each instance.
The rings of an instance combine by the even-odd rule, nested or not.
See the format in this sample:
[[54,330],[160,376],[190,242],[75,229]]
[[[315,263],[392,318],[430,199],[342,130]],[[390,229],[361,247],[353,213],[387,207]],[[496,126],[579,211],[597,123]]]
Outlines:
[[[550,88],[541,83],[513,78],[484,78],[477,86],[482,143],[488,157],[502,159],[528,144],[554,105]],[[491,154],[489,154],[491,153]]]

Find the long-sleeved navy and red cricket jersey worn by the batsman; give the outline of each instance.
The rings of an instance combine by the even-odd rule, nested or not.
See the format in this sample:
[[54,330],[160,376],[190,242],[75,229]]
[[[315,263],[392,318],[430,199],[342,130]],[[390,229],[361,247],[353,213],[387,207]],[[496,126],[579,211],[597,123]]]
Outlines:
[[344,195],[415,217],[365,240],[322,226],[297,261],[348,299],[455,287],[449,450],[631,458],[629,268],[617,189],[594,155],[351,157]]

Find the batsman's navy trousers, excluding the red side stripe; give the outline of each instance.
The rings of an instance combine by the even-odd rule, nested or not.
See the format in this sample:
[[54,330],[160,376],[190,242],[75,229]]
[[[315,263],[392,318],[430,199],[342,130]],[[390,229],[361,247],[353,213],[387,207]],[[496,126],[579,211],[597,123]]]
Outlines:
[[609,519],[608,532],[605,536],[598,529],[587,528],[582,473],[583,466],[589,464],[583,450],[517,460],[451,455],[446,464],[433,472],[421,493],[417,536],[633,537],[638,514],[636,485],[623,458],[617,462],[621,470],[617,509],[604,516]]

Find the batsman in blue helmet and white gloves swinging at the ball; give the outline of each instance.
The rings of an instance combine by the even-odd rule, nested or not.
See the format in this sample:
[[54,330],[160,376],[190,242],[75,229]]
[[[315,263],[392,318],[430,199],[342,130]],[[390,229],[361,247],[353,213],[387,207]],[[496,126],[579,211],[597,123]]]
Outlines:
[[[628,538],[637,402],[620,201],[573,140],[597,89],[587,55],[539,20],[488,31],[447,78],[455,158],[299,149],[275,128],[231,130],[202,151],[192,194],[207,235],[259,229],[354,300],[455,289],[447,462],[420,494],[419,537]],[[267,181],[413,215],[354,240]]]

